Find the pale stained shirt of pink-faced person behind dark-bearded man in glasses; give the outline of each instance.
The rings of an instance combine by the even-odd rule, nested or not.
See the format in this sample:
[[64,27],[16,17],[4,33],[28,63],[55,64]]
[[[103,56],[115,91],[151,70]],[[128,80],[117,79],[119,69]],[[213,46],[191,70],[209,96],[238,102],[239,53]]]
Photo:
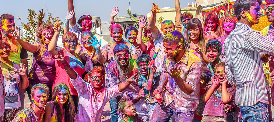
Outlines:
[[[129,48],[129,54],[130,54],[129,58],[131,58],[131,55],[137,53],[136,48],[134,47],[134,45],[132,45],[131,43],[126,42],[123,38],[121,40],[121,43],[128,46],[128,48]],[[107,64],[111,63],[112,61],[115,60],[115,56],[114,56],[114,53],[113,53],[113,49],[114,49],[115,45],[116,44],[114,44],[114,42],[111,41],[110,43],[104,45],[104,47],[102,48],[102,51],[106,51],[107,52]]]

